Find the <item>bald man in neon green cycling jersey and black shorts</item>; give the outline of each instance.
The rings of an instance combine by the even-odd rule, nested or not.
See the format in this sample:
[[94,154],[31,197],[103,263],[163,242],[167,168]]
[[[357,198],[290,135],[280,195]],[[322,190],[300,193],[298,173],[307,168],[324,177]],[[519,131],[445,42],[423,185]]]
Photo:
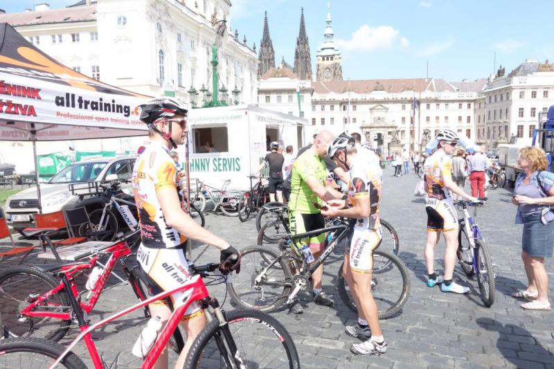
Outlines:
[[[289,199],[289,226],[293,235],[325,228],[325,220],[321,215],[322,200],[341,198],[341,193],[325,186],[327,182],[327,169],[323,158],[327,156],[327,149],[333,138],[329,131],[320,132],[310,148],[298,155],[292,165],[291,194]],[[309,246],[313,255],[307,258],[312,262],[319,258],[323,252],[325,233],[314,237],[306,237],[298,240],[292,247],[302,249]],[[332,307],[333,300],[321,289],[323,277],[323,264],[312,274],[314,287],[314,302],[319,305]],[[295,314],[303,312],[302,306],[295,300],[289,306]]]

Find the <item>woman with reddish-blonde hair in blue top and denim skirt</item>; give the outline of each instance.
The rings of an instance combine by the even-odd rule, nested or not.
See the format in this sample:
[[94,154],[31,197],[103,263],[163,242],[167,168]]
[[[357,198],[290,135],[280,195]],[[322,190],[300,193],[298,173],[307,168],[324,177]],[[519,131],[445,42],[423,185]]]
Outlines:
[[519,150],[517,165],[523,172],[515,181],[512,203],[517,205],[516,224],[524,225],[521,259],[528,285],[512,297],[533,300],[521,304],[523,309],[550,310],[544,259],[552,257],[554,246],[554,174],[546,171],[546,154],[538,147]]

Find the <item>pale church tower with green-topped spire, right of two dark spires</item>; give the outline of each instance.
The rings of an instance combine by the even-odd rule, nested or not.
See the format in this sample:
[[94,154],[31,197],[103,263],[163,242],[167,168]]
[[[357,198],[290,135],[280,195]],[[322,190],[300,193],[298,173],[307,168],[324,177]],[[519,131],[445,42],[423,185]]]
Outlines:
[[331,5],[327,3],[327,26],[325,27],[325,41],[317,49],[317,75],[318,82],[341,81],[342,64],[341,52],[334,42],[333,28],[331,27]]

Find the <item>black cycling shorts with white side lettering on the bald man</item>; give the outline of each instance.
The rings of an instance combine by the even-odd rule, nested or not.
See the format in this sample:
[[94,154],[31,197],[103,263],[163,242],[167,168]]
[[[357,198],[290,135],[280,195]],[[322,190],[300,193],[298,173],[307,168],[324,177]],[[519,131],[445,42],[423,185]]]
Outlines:
[[[289,210],[289,226],[291,235],[297,235],[298,233],[325,228],[325,218],[321,213],[303,214]],[[293,244],[296,244],[299,249],[302,249],[303,245],[307,244],[310,246],[312,253],[322,251],[325,247],[325,233],[301,238],[293,242]]]

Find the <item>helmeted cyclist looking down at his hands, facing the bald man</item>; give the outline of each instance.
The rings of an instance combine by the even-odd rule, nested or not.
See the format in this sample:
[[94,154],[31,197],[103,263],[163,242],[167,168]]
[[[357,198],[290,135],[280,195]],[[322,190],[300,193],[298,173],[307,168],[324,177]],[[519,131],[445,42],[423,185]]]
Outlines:
[[358,323],[347,325],[346,334],[368,340],[352,344],[350,351],[361,355],[383,354],[386,341],[370,287],[373,250],[379,247],[382,239],[379,224],[381,168],[375,161],[369,163],[358,154],[355,139],[347,134],[334,138],[328,157],[350,174],[348,198],[328,201],[329,209],[321,212],[327,217],[355,219],[352,240],[344,255],[343,276],[358,308]]

